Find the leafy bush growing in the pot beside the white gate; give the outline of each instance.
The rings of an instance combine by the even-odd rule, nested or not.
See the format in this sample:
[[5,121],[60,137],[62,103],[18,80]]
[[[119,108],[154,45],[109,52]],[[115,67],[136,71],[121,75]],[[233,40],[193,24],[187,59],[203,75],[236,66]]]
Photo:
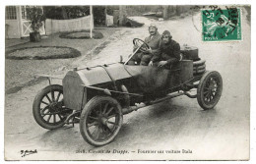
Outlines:
[[42,13],[42,9],[36,6],[26,7],[27,19],[32,22],[32,30],[37,32],[42,27],[45,16]]

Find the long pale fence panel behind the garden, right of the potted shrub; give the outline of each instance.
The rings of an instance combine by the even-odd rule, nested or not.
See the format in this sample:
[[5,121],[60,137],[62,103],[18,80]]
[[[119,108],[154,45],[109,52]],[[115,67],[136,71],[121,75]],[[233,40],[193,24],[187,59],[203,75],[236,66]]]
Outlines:
[[[45,21],[46,34],[51,34],[60,31],[74,31],[82,29],[90,29],[91,16],[86,16],[72,20],[51,20]],[[94,23],[93,23],[94,28]]]

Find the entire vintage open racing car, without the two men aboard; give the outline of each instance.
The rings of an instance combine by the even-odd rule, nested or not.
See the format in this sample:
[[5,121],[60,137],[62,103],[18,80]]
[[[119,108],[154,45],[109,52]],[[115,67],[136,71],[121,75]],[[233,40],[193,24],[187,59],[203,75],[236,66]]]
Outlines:
[[[48,130],[79,123],[82,137],[92,145],[109,143],[122,126],[123,115],[147,105],[180,95],[197,98],[203,109],[218,103],[223,80],[216,71],[206,71],[196,47],[181,48],[180,60],[171,69],[128,65],[137,51],[149,45],[135,38],[137,47],[126,62],[74,68],[62,85],[51,84],[35,96],[32,113],[38,125]],[[196,88],[196,93],[189,92]]]

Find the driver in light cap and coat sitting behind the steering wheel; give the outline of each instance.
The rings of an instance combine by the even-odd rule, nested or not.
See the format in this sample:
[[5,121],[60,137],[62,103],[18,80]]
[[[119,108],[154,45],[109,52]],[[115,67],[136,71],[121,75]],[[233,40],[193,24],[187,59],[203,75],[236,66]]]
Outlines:
[[146,52],[138,51],[130,59],[130,61],[128,62],[128,65],[135,65],[135,62],[137,62],[137,64],[148,66],[154,54],[159,53],[161,36],[158,31],[158,27],[152,23],[149,27],[149,32],[150,32],[150,36],[145,38],[145,42],[150,46],[150,49],[148,49]]

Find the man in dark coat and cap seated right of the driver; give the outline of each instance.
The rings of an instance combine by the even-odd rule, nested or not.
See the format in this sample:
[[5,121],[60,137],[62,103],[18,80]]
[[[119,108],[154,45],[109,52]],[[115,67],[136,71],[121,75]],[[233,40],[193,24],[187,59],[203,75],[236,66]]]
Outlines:
[[172,36],[168,30],[164,30],[161,35],[161,44],[159,53],[155,53],[149,66],[158,66],[170,69],[171,66],[180,59],[179,43],[171,39]]

